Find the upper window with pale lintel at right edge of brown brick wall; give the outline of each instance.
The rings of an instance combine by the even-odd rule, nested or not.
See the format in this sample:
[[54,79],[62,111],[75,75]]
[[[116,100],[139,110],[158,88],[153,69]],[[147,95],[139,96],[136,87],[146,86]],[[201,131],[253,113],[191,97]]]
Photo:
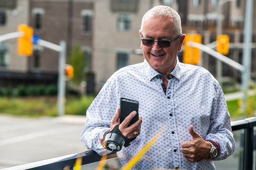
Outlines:
[[81,11],[82,30],[85,33],[88,33],[92,30],[92,15],[93,15],[93,11],[91,11],[91,10],[82,10]]

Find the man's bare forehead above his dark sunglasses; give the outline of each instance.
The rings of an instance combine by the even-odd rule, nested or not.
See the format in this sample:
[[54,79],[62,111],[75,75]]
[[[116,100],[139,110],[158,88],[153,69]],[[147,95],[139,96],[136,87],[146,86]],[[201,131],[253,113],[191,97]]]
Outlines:
[[172,18],[163,16],[147,17],[143,22],[143,37],[173,37]]

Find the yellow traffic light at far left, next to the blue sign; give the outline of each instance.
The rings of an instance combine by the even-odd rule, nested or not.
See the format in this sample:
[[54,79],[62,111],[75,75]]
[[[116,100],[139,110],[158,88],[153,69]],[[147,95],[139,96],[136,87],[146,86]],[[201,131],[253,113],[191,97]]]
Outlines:
[[26,24],[20,24],[18,32],[21,31],[24,32],[24,36],[17,38],[17,52],[20,56],[31,56],[33,54],[33,28]]

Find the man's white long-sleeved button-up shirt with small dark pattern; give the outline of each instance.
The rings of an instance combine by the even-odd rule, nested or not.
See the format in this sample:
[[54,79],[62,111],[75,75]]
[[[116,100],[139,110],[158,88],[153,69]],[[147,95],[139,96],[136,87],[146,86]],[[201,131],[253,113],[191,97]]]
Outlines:
[[219,142],[220,153],[214,160],[226,159],[235,150],[230,115],[218,81],[206,69],[177,60],[164,95],[158,74],[146,61],[116,71],[88,108],[81,140],[99,154],[110,153],[100,144],[99,135],[109,130],[120,98],[134,99],[140,103],[143,117],[141,133],[129,147],[117,152],[121,167],[167,125],[133,170],[215,170],[212,160],[192,163],[180,150],[183,142],[192,140],[190,125],[204,140]]

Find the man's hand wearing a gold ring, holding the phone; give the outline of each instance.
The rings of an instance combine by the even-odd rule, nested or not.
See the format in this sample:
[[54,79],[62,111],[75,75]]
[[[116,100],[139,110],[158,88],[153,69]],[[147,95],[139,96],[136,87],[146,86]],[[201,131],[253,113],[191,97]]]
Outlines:
[[[113,130],[113,128],[116,125],[119,125],[119,130],[122,133],[122,135],[129,139],[135,138],[138,135],[140,135],[142,117],[140,116],[139,120],[137,120],[137,122],[135,122],[134,124],[132,124],[131,126],[128,127],[131,119],[134,118],[134,116],[137,114],[137,112],[136,111],[131,112],[121,124],[119,123],[119,115],[120,115],[119,112],[120,112],[120,108],[117,109],[116,114],[115,114],[114,118],[112,119],[110,130]],[[134,131],[136,131],[138,133],[137,136],[134,135],[134,133],[133,133]]]

